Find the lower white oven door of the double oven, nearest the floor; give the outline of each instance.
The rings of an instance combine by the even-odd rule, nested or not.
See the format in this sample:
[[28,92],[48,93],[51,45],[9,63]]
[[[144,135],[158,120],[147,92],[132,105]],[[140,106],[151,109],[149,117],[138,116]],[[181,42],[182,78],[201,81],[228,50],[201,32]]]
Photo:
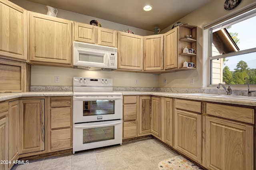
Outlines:
[[73,153],[122,144],[122,120],[77,123],[73,126]]

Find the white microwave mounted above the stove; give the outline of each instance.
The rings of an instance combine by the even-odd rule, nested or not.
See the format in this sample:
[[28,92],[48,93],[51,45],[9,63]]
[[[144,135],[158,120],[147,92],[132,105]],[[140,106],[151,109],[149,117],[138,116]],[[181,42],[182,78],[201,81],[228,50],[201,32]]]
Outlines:
[[73,68],[111,71],[117,69],[117,48],[74,41]]

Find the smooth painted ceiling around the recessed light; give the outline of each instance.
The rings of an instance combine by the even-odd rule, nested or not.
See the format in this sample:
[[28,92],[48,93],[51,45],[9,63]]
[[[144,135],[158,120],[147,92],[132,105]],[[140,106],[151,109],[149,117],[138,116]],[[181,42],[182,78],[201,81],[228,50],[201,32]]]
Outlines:
[[[28,0],[132,27],[164,29],[211,0]],[[150,4],[151,11],[142,10]]]

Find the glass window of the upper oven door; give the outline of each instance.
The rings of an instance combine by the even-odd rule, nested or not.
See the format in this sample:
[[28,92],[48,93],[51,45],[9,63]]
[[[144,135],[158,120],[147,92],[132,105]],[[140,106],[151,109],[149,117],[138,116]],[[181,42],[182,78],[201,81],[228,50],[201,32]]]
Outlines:
[[114,100],[95,100],[83,102],[83,116],[114,114]]

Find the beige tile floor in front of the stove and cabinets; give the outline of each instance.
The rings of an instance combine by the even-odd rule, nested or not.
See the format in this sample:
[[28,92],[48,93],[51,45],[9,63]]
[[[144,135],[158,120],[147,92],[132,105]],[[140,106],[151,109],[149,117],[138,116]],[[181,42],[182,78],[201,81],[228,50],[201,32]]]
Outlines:
[[77,154],[65,154],[14,165],[11,170],[158,170],[161,160],[177,156],[152,138]]

